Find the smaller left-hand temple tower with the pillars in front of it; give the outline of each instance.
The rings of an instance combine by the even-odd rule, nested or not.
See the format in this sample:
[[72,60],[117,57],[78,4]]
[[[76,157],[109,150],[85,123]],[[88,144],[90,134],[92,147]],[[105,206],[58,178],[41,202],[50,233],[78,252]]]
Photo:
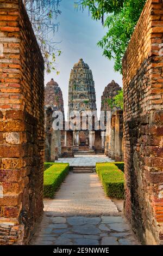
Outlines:
[[61,156],[62,130],[53,129],[54,111],[61,111],[64,114],[64,100],[62,92],[53,79],[45,87],[45,161],[53,162]]

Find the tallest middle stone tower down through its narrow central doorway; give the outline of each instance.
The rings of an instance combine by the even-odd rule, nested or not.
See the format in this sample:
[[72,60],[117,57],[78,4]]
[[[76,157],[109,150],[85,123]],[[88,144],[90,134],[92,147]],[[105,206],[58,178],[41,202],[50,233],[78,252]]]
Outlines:
[[[89,120],[80,121],[80,128],[73,130],[73,151],[95,151],[95,120],[97,116],[95,82],[92,71],[83,59],[74,64],[70,74],[68,90],[68,120],[72,111],[80,112],[80,117],[86,111],[92,112],[92,127]],[[85,128],[83,128],[83,124]],[[71,130],[72,128],[70,128]],[[68,133],[67,133],[68,134]]]

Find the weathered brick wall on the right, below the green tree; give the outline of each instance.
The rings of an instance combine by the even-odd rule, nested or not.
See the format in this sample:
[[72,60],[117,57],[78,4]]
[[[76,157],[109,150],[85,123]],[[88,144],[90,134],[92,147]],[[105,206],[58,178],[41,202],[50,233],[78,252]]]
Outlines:
[[147,0],[123,58],[126,216],[163,243],[163,3]]

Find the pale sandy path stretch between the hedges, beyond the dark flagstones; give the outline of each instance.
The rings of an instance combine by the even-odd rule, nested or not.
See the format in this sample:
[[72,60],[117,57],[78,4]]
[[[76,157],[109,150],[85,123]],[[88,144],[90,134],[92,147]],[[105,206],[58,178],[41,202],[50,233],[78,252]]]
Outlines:
[[61,184],[55,199],[45,199],[44,206],[45,211],[52,211],[55,216],[118,215],[116,205],[105,196],[96,172],[70,172]]

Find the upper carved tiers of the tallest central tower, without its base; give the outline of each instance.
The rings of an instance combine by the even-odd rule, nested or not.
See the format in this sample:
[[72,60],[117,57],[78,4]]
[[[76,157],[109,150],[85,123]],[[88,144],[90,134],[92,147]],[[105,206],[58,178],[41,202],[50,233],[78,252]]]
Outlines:
[[96,111],[95,83],[92,71],[83,59],[74,64],[70,74],[68,111]]

